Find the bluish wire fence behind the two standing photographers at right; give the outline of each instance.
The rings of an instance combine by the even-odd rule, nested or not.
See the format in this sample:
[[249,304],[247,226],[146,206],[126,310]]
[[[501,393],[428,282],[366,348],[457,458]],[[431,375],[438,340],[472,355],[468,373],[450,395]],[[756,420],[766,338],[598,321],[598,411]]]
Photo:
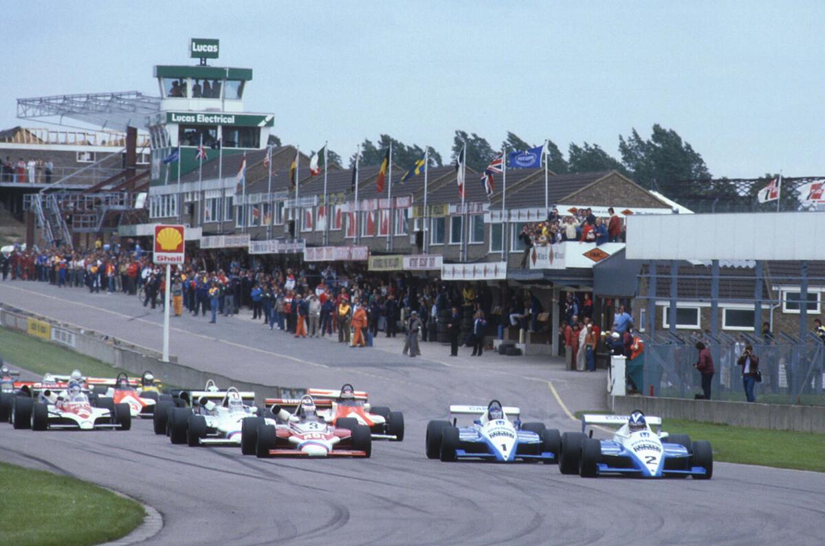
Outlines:
[[[641,363],[644,396],[696,398],[702,393],[701,376],[694,365],[699,360],[697,341],[702,341],[714,360],[711,399],[745,402],[742,368],[737,360],[746,345],[759,357],[762,381],[757,383],[757,402],[825,406],[825,344],[813,332],[804,338],[780,334],[765,341],[748,333],[719,337],[681,336],[671,333],[645,337]],[[631,363],[633,364],[633,363]],[[637,388],[639,385],[637,385]]]

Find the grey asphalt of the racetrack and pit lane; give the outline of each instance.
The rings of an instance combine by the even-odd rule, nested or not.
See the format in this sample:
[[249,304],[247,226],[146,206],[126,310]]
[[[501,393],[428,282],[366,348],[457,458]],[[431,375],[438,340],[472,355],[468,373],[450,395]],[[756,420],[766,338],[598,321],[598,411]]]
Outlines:
[[[161,345],[163,314],[136,298],[7,281],[0,301]],[[472,358],[464,348],[450,358],[431,343],[412,359],[400,355],[400,337],[350,349],[295,340],[250,317],[172,318],[172,354],[259,383],[352,383],[370,402],[404,412],[403,442],[374,442],[370,459],[261,460],[237,448],[171,445],[151,421],[126,432],[0,425],[0,459],[155,507],[163,529],[145,544],[823,544],[821,473],[717,463],[709,481],[587,479],[555,465],[447,464],[424,454],[427,421],[446,417],[450,403],[498,398],[520,406],[524,421],[576,431],[569,412],[605,404],[603,372],[568,372],[540,357]]]

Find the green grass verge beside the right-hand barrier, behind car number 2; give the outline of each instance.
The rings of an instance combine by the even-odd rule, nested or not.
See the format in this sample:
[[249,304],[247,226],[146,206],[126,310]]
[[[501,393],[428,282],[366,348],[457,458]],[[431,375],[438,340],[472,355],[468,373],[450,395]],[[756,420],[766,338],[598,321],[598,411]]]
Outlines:
[[[584,413],[608,412],[576,412],[576,417],[581,419]],[[685,419],[664,419],[662,430],[690,435],[691,440],[708,440],[716,461],[825,472],[823,434],[770,431]]]

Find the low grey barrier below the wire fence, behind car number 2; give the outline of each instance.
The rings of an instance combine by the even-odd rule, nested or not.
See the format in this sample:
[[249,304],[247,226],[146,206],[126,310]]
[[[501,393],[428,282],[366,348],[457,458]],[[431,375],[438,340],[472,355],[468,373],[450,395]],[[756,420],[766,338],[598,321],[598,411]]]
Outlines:
[[[641,410],[648,415],[688,419],[731,426],[825,433],[825,407],[723,402],[648,396],[610,396],[607,405],[615,413]],[[667,430],[667,428],[666,428]]]

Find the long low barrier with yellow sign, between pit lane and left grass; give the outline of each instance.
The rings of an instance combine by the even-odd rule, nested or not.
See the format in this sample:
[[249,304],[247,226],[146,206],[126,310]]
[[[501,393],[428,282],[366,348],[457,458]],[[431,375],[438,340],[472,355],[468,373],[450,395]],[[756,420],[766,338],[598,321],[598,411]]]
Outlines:
[[81,355],[91,356],[115,368],[125,369],[133,375],[143,374],[149,369],[164,384],[177,385],[181,388],[202,388],[207,380],[214,379],[219,387],[225,388],[232,385],[240,390],[255,391],[257,402],[260,403],[263,398],[296,398],[306,392],[305,388],[249,383],[231,379],[225,375],[200,371],[200,369],[177,364],[177,357],[172,355],[169,356],[171,362],[163,362],[160,360],[161,354],[158,351],[2,303],[0,303],[0,326],[65,346]]

